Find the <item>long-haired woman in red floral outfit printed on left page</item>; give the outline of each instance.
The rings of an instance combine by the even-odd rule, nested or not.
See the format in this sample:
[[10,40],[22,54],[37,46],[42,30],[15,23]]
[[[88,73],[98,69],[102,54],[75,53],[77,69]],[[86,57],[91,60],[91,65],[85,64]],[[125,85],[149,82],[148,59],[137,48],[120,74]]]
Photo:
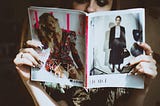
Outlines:
[[60,78],[65,76],[83,80],[84,68],[75,47],[76,33],[60,28],[58,19],[50,13],[43,13],[39,17],[39,28],[35,27],[35,30],[43,45],[42,49],[50,49],[50,55],[45,63],[46,71],[52,71]]

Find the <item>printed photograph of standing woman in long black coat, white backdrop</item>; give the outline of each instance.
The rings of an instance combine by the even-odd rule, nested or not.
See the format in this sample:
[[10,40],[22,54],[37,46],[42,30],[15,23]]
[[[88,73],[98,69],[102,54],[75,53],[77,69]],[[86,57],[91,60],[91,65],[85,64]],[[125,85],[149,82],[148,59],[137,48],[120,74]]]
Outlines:
[[92,17],[90,35],[93,44],[90,75],[128,73],[129,60],[143,54],[143,20],[139,13]]

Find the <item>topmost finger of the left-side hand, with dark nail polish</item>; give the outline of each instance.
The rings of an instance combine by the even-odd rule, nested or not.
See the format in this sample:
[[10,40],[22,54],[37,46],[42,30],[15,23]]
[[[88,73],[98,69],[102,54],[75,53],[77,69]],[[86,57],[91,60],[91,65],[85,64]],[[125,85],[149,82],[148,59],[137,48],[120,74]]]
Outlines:
[[35,47],[35,48],[43,47],[42,43],[38,40],[28,40],[26,43],[28,46]]

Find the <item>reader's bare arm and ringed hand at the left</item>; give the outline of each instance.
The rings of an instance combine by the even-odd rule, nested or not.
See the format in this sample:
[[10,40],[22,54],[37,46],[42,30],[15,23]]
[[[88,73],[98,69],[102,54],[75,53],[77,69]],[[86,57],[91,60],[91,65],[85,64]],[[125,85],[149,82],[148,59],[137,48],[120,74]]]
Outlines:
[[[34,45],[35,42],[29,42]],[[36,106],[58,106],[58,104],[46,93],[39,82],[32,82],[30,80],[30,67],[39,66],[38,54],[32,48],[25,48],[20,50],[14,59],[16,69],[32,96]]]

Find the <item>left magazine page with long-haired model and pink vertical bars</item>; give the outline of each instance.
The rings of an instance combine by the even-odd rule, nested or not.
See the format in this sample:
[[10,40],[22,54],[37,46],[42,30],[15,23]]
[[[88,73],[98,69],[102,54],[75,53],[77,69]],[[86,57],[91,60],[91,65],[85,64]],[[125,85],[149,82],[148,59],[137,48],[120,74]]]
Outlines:
[[43,65],[31,69],[31,80],[83,86],[85,70],[85,14],[58,8],[29,7],[32,40]]

